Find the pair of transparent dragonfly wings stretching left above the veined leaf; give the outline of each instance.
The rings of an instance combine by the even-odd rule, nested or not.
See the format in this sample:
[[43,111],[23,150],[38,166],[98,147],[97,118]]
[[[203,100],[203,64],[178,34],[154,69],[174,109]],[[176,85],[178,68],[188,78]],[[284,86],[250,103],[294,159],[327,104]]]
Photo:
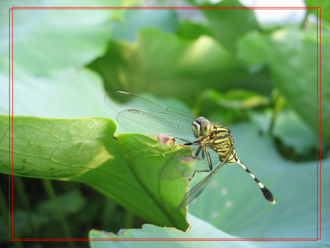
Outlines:
[[[124,90],[110,91],[104,97],[106,104],[115,110],[117,121],[129,132],[165,134],[195,141],[191,123],[197,116],[166,107]],[[177,140],[177,143],[186,143]]]

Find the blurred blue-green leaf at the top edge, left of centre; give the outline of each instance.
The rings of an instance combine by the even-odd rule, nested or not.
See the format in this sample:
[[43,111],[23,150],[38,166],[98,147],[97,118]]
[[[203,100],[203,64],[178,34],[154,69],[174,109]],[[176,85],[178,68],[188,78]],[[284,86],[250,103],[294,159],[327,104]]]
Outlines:
[[154,27],[174,33],[178,26],[175,10],[126,10],[123,20],[114,23],[111,38],[136,41],[140,29]]

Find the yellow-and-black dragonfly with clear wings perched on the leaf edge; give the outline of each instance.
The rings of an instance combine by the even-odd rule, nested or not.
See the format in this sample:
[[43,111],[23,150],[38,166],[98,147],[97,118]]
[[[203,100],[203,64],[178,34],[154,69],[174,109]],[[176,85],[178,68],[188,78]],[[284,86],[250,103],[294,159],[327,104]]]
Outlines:
[[276,203],[271,191],[238,158],[233,134],[226,127],[126,90],[110,91],[104,100],[118,113],[117,121],[127,131],[168,135],[175,138],[177,143],[190,146],[194,171],[189,180],[192,180],[195,172],[210,172],[186,193],[178,208],[199,196],[224,164],[240,165],[257,183],[263,196],[270,203]]

